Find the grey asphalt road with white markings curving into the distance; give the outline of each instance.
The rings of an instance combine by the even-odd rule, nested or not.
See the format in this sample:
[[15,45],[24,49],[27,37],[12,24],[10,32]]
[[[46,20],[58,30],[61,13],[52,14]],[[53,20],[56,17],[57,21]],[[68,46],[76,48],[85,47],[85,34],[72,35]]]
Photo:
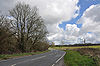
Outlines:
[[64,54],[64,51],[52,50],[39,55],[3,60],[0,66],[54,66]]

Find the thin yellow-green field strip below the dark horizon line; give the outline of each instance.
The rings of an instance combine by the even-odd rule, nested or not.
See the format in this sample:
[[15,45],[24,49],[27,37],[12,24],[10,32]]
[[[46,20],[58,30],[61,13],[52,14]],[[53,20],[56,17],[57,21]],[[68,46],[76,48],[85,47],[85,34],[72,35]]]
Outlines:
[[100,48],[100,45],[98,46],[77,46],[77,47],[52,47],[52,48],[58,49],[58,50],[79,49],[79,48]]

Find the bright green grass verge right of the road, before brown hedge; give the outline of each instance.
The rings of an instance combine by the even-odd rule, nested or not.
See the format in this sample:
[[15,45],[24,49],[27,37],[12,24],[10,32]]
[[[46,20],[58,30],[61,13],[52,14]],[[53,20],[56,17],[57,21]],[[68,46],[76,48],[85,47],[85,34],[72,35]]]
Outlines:
[[77,51],[66,50],[64,56],[66,66],[97,66],[89,56],[80,55]]

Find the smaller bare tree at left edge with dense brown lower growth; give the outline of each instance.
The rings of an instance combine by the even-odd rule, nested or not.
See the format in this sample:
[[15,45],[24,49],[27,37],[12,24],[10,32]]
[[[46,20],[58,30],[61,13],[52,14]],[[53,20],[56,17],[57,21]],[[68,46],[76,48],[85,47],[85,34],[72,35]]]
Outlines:
[[10,30],[10,22],[6,16],[0,16],[0,54],[12,53],[15,48],[16,40]]

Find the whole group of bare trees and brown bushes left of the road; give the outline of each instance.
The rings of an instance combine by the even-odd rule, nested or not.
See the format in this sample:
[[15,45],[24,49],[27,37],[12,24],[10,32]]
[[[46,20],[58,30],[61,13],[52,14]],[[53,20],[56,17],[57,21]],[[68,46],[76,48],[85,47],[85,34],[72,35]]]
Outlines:
[[18,3],[9,16],[0,16],[0,54],[48,49],[48,31],[37,7]]

